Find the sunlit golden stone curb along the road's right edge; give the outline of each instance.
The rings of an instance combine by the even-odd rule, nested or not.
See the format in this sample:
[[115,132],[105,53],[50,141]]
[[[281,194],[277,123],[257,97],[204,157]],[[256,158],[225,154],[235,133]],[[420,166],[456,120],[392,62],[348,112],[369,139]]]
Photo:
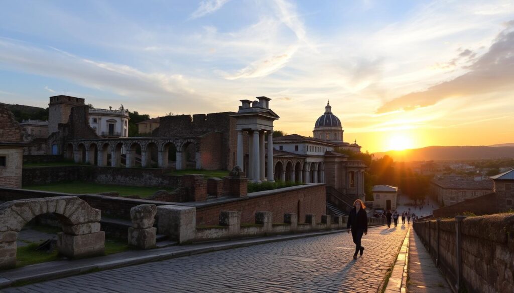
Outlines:
[[407,264],[409,263],[409,237],[411,226],[407,229],[405,239],[394,263],[391,277],[387,283],[385,293],[405,293],[407,292]]

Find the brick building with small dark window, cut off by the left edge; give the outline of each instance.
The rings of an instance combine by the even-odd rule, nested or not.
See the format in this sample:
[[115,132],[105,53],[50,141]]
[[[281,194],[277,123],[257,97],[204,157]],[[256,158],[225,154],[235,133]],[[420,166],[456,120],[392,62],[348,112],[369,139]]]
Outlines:
[[0,186],[22,187],[24,146],[20,125],[12,112],[0,104]]

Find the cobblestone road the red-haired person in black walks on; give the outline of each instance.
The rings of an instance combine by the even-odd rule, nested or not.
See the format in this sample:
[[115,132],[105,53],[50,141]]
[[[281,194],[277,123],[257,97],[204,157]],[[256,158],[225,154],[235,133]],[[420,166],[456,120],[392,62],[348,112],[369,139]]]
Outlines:
[[5,289],[4,292],[376,292],[407,229],[370,228],[352,259],[343,233],[215,251]]

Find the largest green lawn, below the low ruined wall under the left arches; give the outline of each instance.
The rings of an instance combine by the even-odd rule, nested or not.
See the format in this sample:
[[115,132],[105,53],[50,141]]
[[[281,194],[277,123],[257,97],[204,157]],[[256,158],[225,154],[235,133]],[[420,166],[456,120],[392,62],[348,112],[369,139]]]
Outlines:
[[[139,187],[139,186],[122,186],[122,185],[106,185],[85,182],[63,182],[46,185],[29,185],[23,189],[56,191],[65,193],[98,193],[98,192],[118,192],[120,196],[140,196],[147,198],[152,196],[155,191],[163,189],[162,187]],[[168,190],[172,191],[172,190]]]

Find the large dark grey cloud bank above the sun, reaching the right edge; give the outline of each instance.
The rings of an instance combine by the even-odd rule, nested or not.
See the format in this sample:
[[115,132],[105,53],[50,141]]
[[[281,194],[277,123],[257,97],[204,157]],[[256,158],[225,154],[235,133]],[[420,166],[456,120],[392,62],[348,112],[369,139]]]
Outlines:
[[[465,56],[471,52],[463,51]],[[461,54],[462,54],[461,53]],[[498,34],[489,50],[467,67],[468,72],[427,90],[397,97],[379,109],[378,113],[427,107],[451,97],[478,95],[514,88],[514,21]]]

